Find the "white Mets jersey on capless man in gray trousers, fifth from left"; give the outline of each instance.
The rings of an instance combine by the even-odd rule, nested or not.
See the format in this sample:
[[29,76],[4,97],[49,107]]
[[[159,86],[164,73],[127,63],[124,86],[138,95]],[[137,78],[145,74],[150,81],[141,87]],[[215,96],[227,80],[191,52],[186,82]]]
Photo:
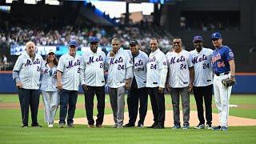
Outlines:
[[133,62],[125,50],[118,50],[114,57],[110,57],[110,53],[107,54],[106,65],[108,67],[107,85],[111,88],[125,86],[125,80],[133,78]]

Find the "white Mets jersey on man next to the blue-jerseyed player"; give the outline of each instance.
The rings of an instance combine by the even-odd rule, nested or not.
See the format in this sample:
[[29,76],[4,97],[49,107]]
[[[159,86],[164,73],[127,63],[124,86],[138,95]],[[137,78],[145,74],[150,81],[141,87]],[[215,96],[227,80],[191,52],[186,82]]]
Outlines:
[[193,86],[209,86],[213,83],[213,66],[211,65],[213,51],[204,47],[199,53],[197,50],[190,51],[191,62],[194,65]]

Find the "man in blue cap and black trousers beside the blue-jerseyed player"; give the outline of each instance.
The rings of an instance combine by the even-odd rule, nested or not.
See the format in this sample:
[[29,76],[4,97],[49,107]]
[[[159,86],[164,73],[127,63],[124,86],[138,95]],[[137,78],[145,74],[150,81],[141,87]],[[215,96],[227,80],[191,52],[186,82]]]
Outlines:
[[203,102],[206,108],[206,126],[211,129],[212,121],[212,91],[213,91],[213,68],[211,58],[214,50],[202,46],[202,36],[194,36],[194,50],[190,51],[190,58],[194,65],[194,99],[198,109],[198,126],[195,129],[205,128],[203,114]]

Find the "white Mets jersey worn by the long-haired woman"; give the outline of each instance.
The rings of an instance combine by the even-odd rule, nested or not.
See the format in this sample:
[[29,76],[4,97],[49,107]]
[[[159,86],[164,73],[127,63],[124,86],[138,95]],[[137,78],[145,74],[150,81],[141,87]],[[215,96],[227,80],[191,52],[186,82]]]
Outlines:
[[57,66],[50,68],[46,62],[42,65],[42,79],[40,90],[44,91],[58,91],[57,87]]

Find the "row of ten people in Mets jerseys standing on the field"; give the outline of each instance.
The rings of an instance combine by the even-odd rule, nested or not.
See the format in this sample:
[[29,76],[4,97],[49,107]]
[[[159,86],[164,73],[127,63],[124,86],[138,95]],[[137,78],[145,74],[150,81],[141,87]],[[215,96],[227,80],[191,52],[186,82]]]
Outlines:
[[[201,129],[205,126],[202,108],[202,98],[204,98],[206,124],[210,129],[212,121],[212,84],[214,83],[215,102],[220,115],[220,126],[215,127],[215,129],[227,130],[228,100],[231,86],[224,87],[221,81],[227,77],[234,78],[234,54],[228,46],[222,46],[222,36],[219,33],[212,34],[212,42],[216,48],[214,51],[202,47],[201,36],[195,36],[193,42],[195,50],[188,52],[182,50],[182,39],[174,38],[174,50],[163,54],[158,48],[158,39],[151,38],[151,53],[148,57],[144,52],[138,50],[138,41],[130,41],[130,50],[127,53],[126,50],[120,49],[120,40],[113,38],[111,41],[112,50],[105,55],[98,50],[98,38],[92,37],[90,38],[90,50],[86,51],[82,57],[76,54],[78,43],[71,41],[69,53],[62,55],[58,66],[57,63],[54,63],[53,51],[47,54],[46,62],[43,62],[40,55],[34,54],[34,43],[28,42],[26,53],[19,56],[14,66],[14,80],[18,87],[22,108],[22,126],[28,126],[29,105],[32,113],[31,126],[39,126],[37,122],[38,89],[39,76],[40,73],[43,73],[51,76],[51,80],[42,78],[45,81],[42,82],[41,86],[44,102],[49,103],[49,100],[47,101],[49,98],[47,98],[47,94],[44,94],[42,87],[50,86],[49,83],[54,80],[56,82],[54,90],[49,91],[57,91],[56,87],[59,90],[60,98],[58,96],[54,96],[54,98],[60,101],[59,127],[61,128],[65,126],[66,120],[68,127],[74,127],[73,118],[80,83],[85,93],[88,127],[94,127],[94,94],[96,94],[98,100],[96,126],[102,127],[105,110],[104,87],[107,83],[114,116],[114,127],[122,128],[123,126],[125,90],[128,90],[129,123],[125,126],[135,126],[138,115],[138,101],[140,102],[138,126],[143,126],[147,111],[147,94],[150,94],[154,123],[149,127],[164,128],[166,113],[164,89],[166,88],[167,91],[170,91],[172,98],[174,129],[181,128],[180,95],[183,112],[182,128],[188,129],[190,127],[189,92],[192,89],[194,89],[200,122],[196,128]],[[42,63],[45,63],[45,66]],[[108,70],[107,82],[105,82],[104,70]],[[33,78],[30,78],[31,76]],[[54,79],[54,77],[57,77],[57,79]],[[58,103],[58,100],[55,102]],[[56,109],[46,107],[47,104],[45,104],[45,111],[48,109],[48,112],[45,112],[45,116],[48,116],[45,117],[45,120],[49,122],[48,126],[52,127]],[[66,114],[68,114],[67,118]]]

